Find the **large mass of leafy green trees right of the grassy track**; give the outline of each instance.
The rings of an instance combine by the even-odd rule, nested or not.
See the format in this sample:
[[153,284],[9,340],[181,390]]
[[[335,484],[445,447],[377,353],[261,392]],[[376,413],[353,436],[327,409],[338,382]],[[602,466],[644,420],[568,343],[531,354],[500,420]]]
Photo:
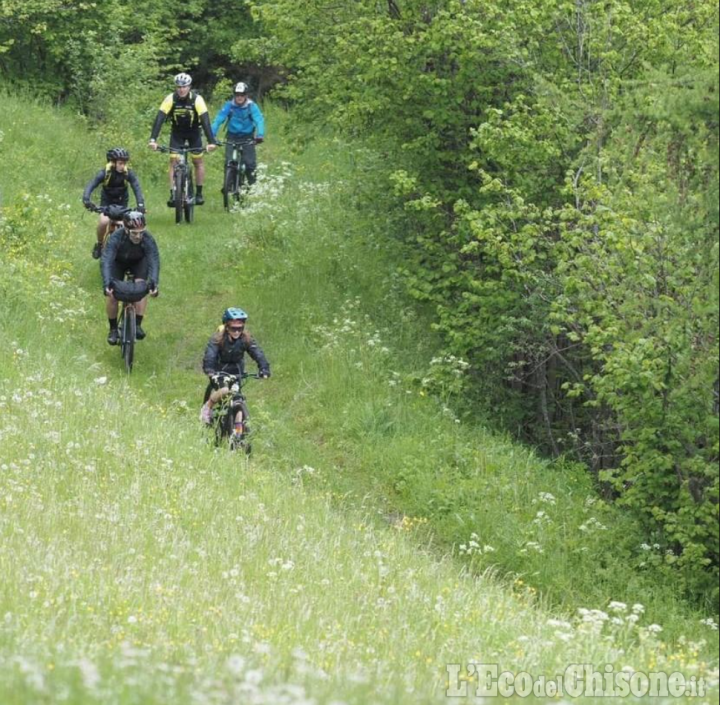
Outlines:
[[587,463],[713,594],[717,5],[252,5],[297,114],[386,155],[454,392]]

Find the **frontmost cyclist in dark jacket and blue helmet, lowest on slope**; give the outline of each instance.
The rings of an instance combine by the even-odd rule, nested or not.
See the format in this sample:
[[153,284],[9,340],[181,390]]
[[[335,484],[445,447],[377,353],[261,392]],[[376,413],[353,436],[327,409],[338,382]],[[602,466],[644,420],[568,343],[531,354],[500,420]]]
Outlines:
[[[245,353],[258,366],[263,379],[270,377],[270,363],[255,339],[245,330],[248,315],[241,308],[228,308],[223,313],[223,325],[210,338],[203,357],[203,372],[210,378],[218,372],[231,375],[242,375],[245,372]],[[212,423],[212,408],[230,390],[227,388],[213,391],[212,382],[205,390],[205,399],[200,419],[204,423]]]

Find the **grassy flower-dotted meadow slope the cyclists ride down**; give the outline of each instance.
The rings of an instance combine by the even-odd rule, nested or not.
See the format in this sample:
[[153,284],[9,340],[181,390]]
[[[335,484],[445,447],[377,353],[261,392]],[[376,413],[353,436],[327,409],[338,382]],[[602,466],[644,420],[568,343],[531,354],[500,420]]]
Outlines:
[[[164,273],[128,381],[104,345],[93,221],[76,217],[101,142],[7,103],[1,147],[18,171],[3,203],[11,221],[43,224],[55,257],[17,265],[11,253],[0,270],[0,286],[13,282],[0,289],[0,327],[14,343],[0,357],[0,569],[13,576],[0,593],[5,701],[52,702],[67,689],[78,702],[193,692],[226,702],[244,688],[283,702],[278,689],[295,683],[320,702],[425,702],[442,664],[471,658],[535,673],[578,661],[703,668],[702,647],[664,647],[627,626],[606,625],[612,638],[601,640],[592,623],[547,624],[533,585],[568,607],[640,601],[641,624],[701,635],[662,586],[608,594],[603,570],[617,565],[598,566],[597,548],[610,535],[628,551],[627,527],[585,504],[582,475],[464,428],[412,384],[432,340],[412,310],[398,313],[398,255],[382,223],[354,210],[357,174],[341,145],[288,164],[288,145],[273,140],[254,205],[228,216],[209,188],[191,228],[160,208],[160,160],[138,154]],[[211,158],[211,186],[219,163]],[[9,271],[18,266],[27,269]],[[58,299],[68,305],[53,317]],[[274,363],[273,380],[249,392],[259,430],[250,472],[213,453],[195,423],[199,358],[228,304],[251,312]],[[522,580],[474,580],[437,559],[424,548],[428,518],[435,537],[479,535],[482,555],[468,544],[476,567],[497,562]],[[581,531],[592,518],[606,528]]]

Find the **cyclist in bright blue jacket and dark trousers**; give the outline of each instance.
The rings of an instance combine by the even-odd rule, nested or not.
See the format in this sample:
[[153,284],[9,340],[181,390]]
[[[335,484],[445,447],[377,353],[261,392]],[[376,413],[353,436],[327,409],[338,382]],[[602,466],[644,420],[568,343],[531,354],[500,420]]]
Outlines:
[[235,97],[228,100],[213,120],[212,133],[217,134],[224,123],[227,123],[225,141],[225,161],[232,158],[233,142],[249,142],[242,150],[242,161],[245,165],[245,174],[250,186],[255,183],[257,170],[257,155],[255,145],[265,139],[265,118],[255,101],[248,95],[246,83],[235,85]]

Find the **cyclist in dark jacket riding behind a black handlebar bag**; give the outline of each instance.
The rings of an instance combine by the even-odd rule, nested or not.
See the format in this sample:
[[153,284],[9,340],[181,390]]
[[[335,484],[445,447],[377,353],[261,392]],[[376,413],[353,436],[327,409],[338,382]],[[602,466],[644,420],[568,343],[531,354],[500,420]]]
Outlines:
[[[107,297],[106,311],[110,332],[108,343],[117,345],[118,302],[113,296],[113,284],[122,281],[126,273],[131,273],[138,283],[147,282],[150,296],[158,295],[160,284],[160,252],[155,238],[146,230],[145,215],[139,211],[130,211],[123,218],[123,227],[116,230],[107,241],[100,260],[103,291]],[[135,305],[137,311],[138,340],[145,337],[142,321],[147,308],[147,296]]]

